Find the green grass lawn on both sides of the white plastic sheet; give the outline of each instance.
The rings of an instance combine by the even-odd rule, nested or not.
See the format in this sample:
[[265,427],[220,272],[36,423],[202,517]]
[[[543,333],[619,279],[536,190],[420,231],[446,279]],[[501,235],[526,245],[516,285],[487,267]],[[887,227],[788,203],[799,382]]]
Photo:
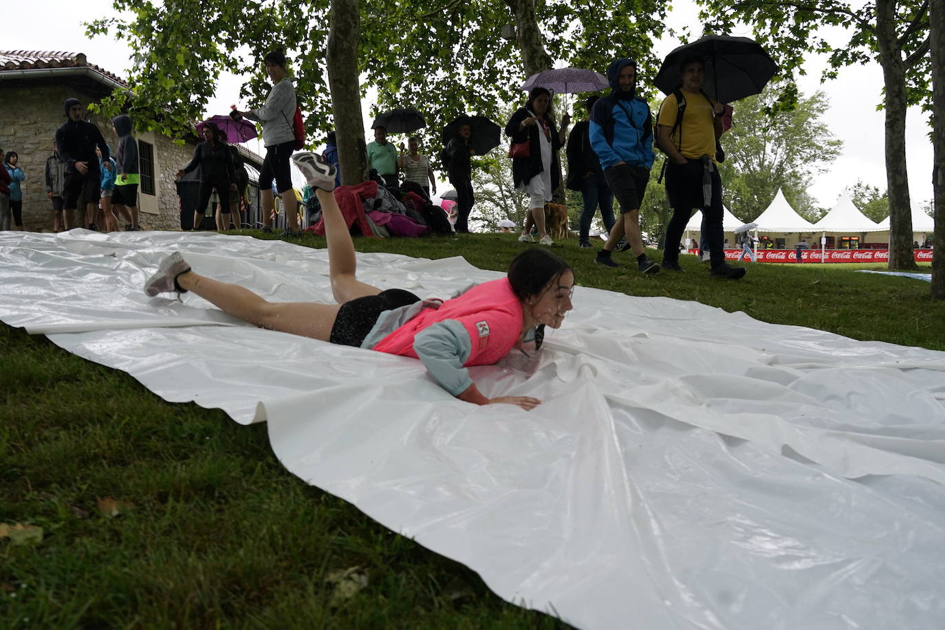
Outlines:
[[[490,269],[522,249],[514,235],[356,247],[462,255]],[[593,250],[575,241],[554,250],[583,285],[945,349],[945,303],[928,298],[927,282],[835,264],[749,264],[745,280],[718,281],[692,256],[681,257],[685,274],[643,277],[593,264]],[[37,545],[0,541],[0,627],[564,625],[506,604],[471,570],[305,485],[273,456],[265,426],[164,402],[123,372],[8,326],[0,352],[0,522],[43,528]],[[99,511],[104,498],[121,503],[118,516]],[[352,567],[367,586],[333,599],[328,576]]]

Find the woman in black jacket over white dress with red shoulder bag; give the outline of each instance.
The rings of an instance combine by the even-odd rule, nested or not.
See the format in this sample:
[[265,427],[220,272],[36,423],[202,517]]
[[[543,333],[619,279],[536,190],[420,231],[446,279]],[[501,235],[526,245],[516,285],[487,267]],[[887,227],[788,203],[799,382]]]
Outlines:
[[[513,113],[506,125],[506,135],[512,145],[526,143],[527,156],[512,158],[512,180],[515,190],[528,195],[529,218],[534,219],[538,227],[541,245],[554,243],[544,227],[544,204],[551,201],[558,189],[561,170],[558,149],[564,145],[570,123],[571,116],[564,114],[558,131],[551,111],[551,93],[544,88],[532,88],[524,108]],[[528,233],[530,227],[531,221],[526,220],[519,236],[523,243],[534,240]]]

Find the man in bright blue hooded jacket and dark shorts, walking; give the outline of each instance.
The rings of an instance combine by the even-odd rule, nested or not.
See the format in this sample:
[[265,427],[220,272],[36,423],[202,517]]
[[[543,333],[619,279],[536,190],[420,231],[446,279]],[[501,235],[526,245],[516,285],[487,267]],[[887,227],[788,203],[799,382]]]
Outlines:
[[656,273],[660,265],[646,258],[640,234],[640,205],[653,165],[653,120],[649,105],[636,95],[637,64],[617,59],[607,68],[610,94],[601,98],[591,113],[591,146],[604,169],[604,179],[620,204],[620,218],[610,230],[596,261],[619,267],[610,257],[626,235],[641,273]]

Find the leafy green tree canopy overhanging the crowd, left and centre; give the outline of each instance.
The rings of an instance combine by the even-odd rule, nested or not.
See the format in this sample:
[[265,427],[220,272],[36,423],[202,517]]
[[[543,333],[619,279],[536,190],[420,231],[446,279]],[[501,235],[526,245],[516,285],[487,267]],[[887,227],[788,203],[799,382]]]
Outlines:
[[[362,94],[377,90],[373,112],[416,107],[427,137],[456,115],[492,117],[503,103],[521,102],[522,53],[514,37],[517,0],[368,0],[361,3],[359,68]],[[131,94],[115,94],[106,111],[125,108],[141,128],[180,135],[202,116],[222,71],[250,77],[242,97],[261,103],[268,92],[261,59],[282,46],[292,60],[297,94],[310,132],[333,126],[327,87],[327,0],[115,0],[130,18],[105,18],[90,36],[113,33],[133,51]],[[662,36],[666,7],[653,0],[540,0],[538,26],[555,64],[603,71],[615,56],[641,62],[642,83],[659,61],[652,40]],[[126,99],[128,99],[126,101]]]

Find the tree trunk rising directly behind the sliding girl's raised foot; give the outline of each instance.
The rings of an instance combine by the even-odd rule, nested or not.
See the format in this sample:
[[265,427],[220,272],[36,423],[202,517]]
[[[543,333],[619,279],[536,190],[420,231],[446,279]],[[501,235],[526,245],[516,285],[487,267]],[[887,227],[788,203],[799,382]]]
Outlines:
[[328,19],[328,85],[335,112],[335,135],[341,183],[345,186],[368,179],[368,152],[364,143],[364,119],[358,82],[357,47],[361,39],[358,0],[332,0]]

